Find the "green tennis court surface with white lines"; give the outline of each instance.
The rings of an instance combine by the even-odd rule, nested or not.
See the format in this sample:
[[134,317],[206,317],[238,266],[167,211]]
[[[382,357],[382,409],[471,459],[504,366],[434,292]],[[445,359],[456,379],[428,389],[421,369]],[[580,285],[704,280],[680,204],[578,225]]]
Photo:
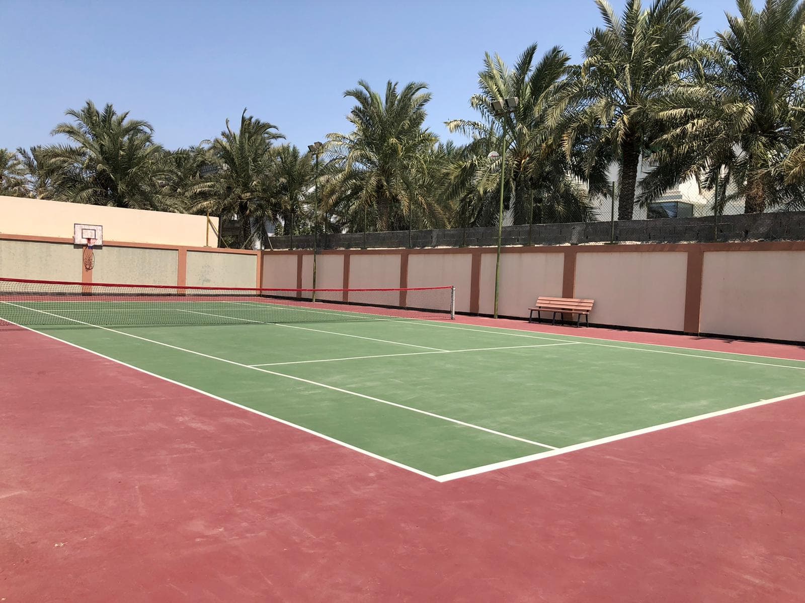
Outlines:
[[187,307],[233,323],[119,326],[114,302],[65,320],[58,302],[4,302],[0,318],[435,478],[805,390],[796,360],[288,308],[263,323],[204,303]]

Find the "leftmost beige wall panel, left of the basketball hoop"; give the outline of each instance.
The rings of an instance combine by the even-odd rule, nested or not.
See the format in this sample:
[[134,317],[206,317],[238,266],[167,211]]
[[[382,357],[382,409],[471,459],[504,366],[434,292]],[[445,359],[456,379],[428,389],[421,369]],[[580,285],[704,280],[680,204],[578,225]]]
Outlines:
[[67,243],[0,240],[0,277],[81,281],[82,252]]

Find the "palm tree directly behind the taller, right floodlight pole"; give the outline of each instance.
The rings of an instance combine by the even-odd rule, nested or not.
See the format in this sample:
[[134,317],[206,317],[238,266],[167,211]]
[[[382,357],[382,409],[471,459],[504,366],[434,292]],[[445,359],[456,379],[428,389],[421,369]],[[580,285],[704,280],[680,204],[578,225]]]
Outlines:
[[519,98],[517,109],[502,117],[506,121],[508,158],[505,188],[506,196],[513,199],[514,224],[592,218],[583,178],[592,176],[589,184],[595,189],[599,181],[603,183],[601,170],[597,166],[588,172],[581,169],[575,151],[563,152],[562,132],[555,127],[555,116],[561,112],[561,99],[568,87],[570,57],[554,47],[535,64],[536,51],[536,44],[527,47],[511,70],[499,56],[487,54],[485,68],[478,74],[481,92],[470,99],[481,113],[481,121],[447,122],[450,131],[471,138],[464,157],[452,166],[447,192],[460,204],[460,222],[464,224],[497,223],[495,191],[500,186],[501,160],[489,160],[488,155],[501,149],[502,124],[494,115],[492,103],[510,96]]

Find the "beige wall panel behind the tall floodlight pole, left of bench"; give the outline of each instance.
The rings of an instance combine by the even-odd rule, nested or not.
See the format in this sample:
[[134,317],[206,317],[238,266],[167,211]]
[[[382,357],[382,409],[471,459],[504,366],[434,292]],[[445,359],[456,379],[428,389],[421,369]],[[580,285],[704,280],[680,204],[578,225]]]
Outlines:
[[[494,253],[481,256],[478,311],[493,314],[495,299]],[[564,256],[561,253],[504,253],[501,256],[500,293],[497,314],[528,316],[537,297],[561,297]]]

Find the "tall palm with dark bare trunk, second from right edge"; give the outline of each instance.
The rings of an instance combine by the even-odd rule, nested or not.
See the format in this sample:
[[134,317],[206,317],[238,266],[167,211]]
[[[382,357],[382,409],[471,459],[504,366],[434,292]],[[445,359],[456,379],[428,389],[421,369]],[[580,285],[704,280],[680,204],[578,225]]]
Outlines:
[[568,87],[568,147],[588,138],[588,167],[608,146],[620,174],[618,219],[632,219],[638,164],[658,132],[658,112],[695,66],[691,32],[699,14],[684,0],[627,0],[622,17],[596,0],[605,27],[592,31],[584,63]]

